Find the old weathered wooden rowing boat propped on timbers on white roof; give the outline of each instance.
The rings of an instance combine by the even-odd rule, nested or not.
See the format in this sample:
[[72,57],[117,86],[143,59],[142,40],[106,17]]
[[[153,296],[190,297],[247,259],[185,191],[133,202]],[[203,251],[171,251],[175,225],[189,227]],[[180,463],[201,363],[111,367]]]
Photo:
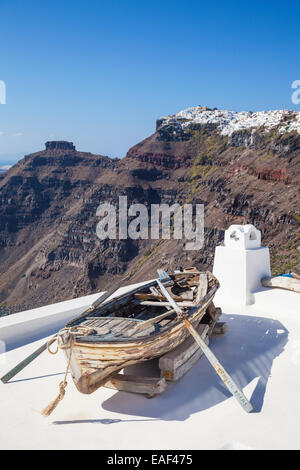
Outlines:
[[[219,287],[209,272],[189,268],[161,278],[163,286],[197,328],[209,323]],[[211,313],[210,313],[211,312]],[[124,367],[175,349],[189,335],[157,280],[93,307],[57,335],[77,389],[92,393]]]

